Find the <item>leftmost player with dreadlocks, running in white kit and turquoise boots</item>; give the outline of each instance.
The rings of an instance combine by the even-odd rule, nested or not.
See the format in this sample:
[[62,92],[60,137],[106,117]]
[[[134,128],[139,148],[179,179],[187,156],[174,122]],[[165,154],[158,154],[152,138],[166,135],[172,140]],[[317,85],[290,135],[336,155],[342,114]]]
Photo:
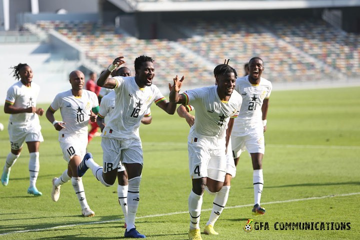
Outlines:
[[11,151],[6,156],[1,183],[4,186],[8,184],[11,166],[20,156],[25,141],[30,154],[28,164],[30,185],[27,188],[27,193],[41,196],[42,193],[36,188],[36,179],[40,168],[39,145],[40,141],[43,141],[38,115],[41,116],[44,110],[36,108],[40,88],[32,82],[33,73],[29,65],[19,63],[11,68],[15,79],[20,79],[20,81],[9,87],[4,104],[4,112],[10,114],[7,129]]

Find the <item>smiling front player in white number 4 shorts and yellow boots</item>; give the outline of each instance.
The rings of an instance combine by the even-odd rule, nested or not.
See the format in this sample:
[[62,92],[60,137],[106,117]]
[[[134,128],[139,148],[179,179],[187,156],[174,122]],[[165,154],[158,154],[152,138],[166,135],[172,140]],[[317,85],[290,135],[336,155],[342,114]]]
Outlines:
[[227,64],[215,70],[217,85],[187,90],[178,94],[182,80],[173,79],[169,95],[171,102],[195,107],[195,119],[188,135],[189,172],[192,189],[188,197],[190,213],[189,240],[201,240],[199,229],[202,194],[206,187],[210,192],[219,192],[226,173],[226,132],[230,117],[236,117],[242,98],[233,91],[236,71]]

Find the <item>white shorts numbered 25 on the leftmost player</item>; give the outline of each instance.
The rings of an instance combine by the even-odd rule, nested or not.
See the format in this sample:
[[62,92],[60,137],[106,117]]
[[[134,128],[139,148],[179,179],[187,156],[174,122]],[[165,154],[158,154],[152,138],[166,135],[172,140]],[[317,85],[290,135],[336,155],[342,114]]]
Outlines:
[[8,124],[7,130],[9,133],[11,149],[14,150],[20,149],[23,145],[23,142],[43,141],[43,137],[40,131],[41,127],[39,126],[36,128],[35,129],[18,128],[16,126],[12,126],[11,124]]

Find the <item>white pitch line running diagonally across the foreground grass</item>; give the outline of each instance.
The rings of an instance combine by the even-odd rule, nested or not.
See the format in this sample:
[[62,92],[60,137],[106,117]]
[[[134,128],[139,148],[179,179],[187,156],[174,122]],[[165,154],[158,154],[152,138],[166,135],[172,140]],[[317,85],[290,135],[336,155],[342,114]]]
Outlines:
[[[282,201],[269,201],[269,202],[263,202],[262,204],[268,205],[268,204],[276,204],[276,203],[284,203],[284,202],[306,201],[306,200],[324,199],[324,198],[330,198],[330,197],[336,197],[336,196],[351,196],[351,195],[359,195],[359,194],[360,194],[360,192],[351,192],[351,193],[344,193],[344,194],[333,194],[333,195],[326,195],[326,196],[313,196],[313,197],[298,198],[298,199],[289,199],[289,200],[282,200]],[[240,208],[240,207],[247,207],[247,206],[253,206],[253,204],[236,205],[236,206],[226,206],[225,208],[226,208],[226,209],[227,209],[227,208]],[[202,209],[201,211],[210,211],[210,210],[212,210],[212,208]],[[136,217],[136,219],[148,218],[148,217],[157,217],[157,216],[168,216],[168,215],[184,214],[184,213],[188,213],[188,211],[177,211],[177,212],[169,212],[169,213],[145,215],[145,216]],[[78,223],[78,224],[59,225],[59,226],[51,226],[51,227],[36,228],[36,229],[29,229],[29,230],[9,231],[9,232],[0,233],[0,236],[1,236],[1,235],[13,234],[13,233],[29,232],[29,231],[51,230],[51,229],[57,229],[57,228],[63,228],[63,227],[71,227],[71,226],[78,226],[78,225],[89,225],[89,224],[107,223],[107,222],[120,221],[120,220],[123,220],[123,218],[112,219],[112,220],[105,220],[105,221],[81,222],[81,223]]]

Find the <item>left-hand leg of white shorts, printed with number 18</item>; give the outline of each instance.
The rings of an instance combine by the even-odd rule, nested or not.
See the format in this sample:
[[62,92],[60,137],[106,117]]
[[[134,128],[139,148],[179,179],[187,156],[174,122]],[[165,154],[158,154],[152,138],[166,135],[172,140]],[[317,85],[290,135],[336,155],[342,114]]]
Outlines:
[[121,141],[119,139],[101,137],[103,172],[116,169],[120,163]]

